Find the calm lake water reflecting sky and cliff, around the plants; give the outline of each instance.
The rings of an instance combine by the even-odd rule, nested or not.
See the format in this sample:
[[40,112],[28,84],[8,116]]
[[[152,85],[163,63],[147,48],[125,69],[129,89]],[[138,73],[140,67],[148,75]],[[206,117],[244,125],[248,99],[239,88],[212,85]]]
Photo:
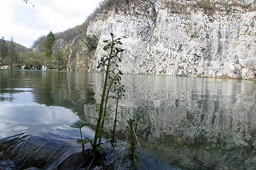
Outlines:
[[[143,114],[138,168],[256,169],[255,81],[122,75],[121,83],[117,152],[127,137],[126,121]],[[103,86],[103,73],[0,69],[0,160],[23,169],[53,169],[81,151],[79,130],[70,125],[95,123],[89,116],[97,117]],[[113,121],[106,121],[105,147],[112,128]],[[94,130],[86,126],[82,134],[93,139]],[[117,169],[119,155],[109,157]]]

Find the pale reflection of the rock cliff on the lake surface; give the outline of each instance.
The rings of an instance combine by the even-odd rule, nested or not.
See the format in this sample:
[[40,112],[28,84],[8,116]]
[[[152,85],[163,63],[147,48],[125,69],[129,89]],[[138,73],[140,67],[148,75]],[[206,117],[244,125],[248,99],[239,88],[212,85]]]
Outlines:
[[[125,115],[119,116],[121,134],[126,133],[127,118],[143,111],[140,135],[145,145],[167,155],[171,164],[255,167],[254,82],[145,75],[125,75],[122,82],[126,94],[119,103]],[[96,117],[94,111],[93,105],[85,105],[85,113]],[[113,121],[105,127],[111,133]]]

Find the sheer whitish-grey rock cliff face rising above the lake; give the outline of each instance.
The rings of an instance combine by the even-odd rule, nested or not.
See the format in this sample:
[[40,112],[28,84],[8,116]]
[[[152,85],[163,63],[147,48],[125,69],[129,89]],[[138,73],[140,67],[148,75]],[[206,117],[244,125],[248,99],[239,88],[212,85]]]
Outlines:
[[98,71],[102,41],[112,32],[122,38],[118,65],[125,74],[255,78],[255,2],[216,1],[212,9],[196,6],[199,1],[166,2],[146,1],[93,20],[87,34],[100,41],[89,70]]

